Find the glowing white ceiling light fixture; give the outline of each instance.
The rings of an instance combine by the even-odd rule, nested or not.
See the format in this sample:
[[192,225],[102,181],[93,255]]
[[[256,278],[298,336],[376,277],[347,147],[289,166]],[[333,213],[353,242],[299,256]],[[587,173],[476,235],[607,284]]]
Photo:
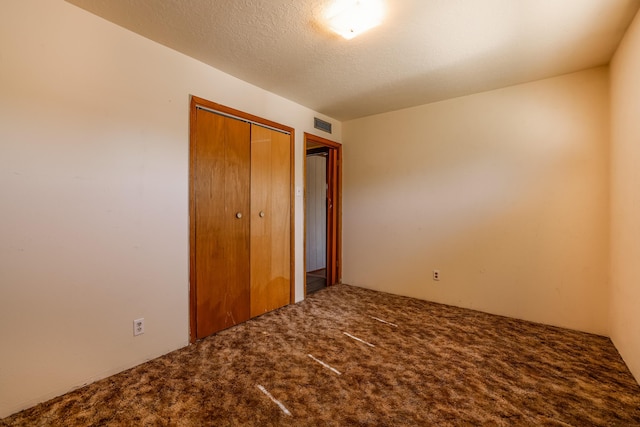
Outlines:
[[349,40],[380,25],[384,15],[382,0],[336,1],[329,10],[329,28]]

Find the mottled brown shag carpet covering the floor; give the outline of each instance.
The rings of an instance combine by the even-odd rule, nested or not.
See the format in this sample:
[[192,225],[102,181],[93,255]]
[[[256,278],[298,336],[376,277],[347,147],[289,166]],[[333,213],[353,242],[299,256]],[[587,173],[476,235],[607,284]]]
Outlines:
[[0,425],[640,426],[640,387],[608,338],[339,285]]

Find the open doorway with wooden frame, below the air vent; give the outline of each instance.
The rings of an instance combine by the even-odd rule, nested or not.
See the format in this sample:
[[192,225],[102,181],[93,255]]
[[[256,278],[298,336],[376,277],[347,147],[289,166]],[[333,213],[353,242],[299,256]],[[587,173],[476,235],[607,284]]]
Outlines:
[[340,283],[342,146],[305,133],[305,294]]

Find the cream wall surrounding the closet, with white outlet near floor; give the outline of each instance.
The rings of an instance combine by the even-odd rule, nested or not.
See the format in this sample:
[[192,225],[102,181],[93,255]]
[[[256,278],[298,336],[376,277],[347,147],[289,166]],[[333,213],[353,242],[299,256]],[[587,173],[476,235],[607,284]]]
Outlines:
[[0,52],[4,417],[187,344],[190,94],[294,127],[298,187],[316,114],[62,0],[4,1]]

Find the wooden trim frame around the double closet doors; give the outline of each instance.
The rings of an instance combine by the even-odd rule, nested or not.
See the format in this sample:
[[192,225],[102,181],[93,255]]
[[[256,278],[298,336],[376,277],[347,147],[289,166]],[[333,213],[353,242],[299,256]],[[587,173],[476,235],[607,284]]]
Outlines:
[[289,133],[290,138],[290,206],[289,206],[289,218],[290,218],[290,300],[289,304],[295,303],[295,129],[289,126],[282,125],[280,123],[272,122],[271,120],[264,119],[262,117],[254,116],[253,114],[245,113],[244,111],[236,110],[235,108],[227,107],[222,104],[218,104],[212,101],[208,101],[204,98],[199,98],[195,95],[191,95],[191,101],[189,106],[189,341],[191,343],[196,342],[196,281],[195,281],[195,143],[196,143],[196,111],[198,107],[202,107],[212,112],[218,112],[226,116],[231,116],[239,120],[244,120],[250,123],[256,123],[261,126],[270,127],[276,130]]

